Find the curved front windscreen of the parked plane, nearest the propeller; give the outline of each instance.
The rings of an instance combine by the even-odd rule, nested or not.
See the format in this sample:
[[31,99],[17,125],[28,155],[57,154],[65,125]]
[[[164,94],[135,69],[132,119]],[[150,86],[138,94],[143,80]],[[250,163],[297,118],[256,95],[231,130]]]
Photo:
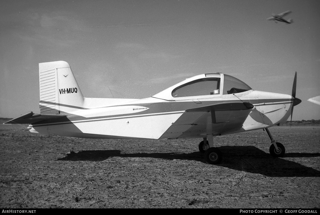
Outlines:
[[229,75],[223,75],[223,77],[223,94],[241,93],[252,89],[246,83],[235,77]]

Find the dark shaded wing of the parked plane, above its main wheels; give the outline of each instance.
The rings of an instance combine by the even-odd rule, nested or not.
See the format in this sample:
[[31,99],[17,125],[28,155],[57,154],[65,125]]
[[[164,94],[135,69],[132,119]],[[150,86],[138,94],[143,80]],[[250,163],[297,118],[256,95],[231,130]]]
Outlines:
[[[240,101],[188,109],[160,138],[205,137],[210,133],[227,134],[241,129],[253,107],[250,103]],[[211,131],[208,130],[208,125]]]

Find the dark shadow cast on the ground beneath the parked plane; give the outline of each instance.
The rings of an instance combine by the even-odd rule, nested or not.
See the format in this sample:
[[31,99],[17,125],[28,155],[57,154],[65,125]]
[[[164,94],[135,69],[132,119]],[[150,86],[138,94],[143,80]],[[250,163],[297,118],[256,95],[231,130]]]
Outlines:
[[[282,158],[273,158],[269,153],[263,152],[254,146],[221,146],[219,149],[223,153],[223,159],[220,164],[212,165],[213,167],[227,167],[230,169],[263,174],[272,177],[320,177],[320,171],[316,169],[306,167],[299,163]],[[148,157],[168,160],[195,160],[205,163],[204,156],[200,152],[121,154],[120,150],[90,150],[71,152],[70,154],[67,154],[66,157],[58,160],[102,161],[110,157]],[[320,157],[320,153],[288,153],[285,155],[285,157]]]

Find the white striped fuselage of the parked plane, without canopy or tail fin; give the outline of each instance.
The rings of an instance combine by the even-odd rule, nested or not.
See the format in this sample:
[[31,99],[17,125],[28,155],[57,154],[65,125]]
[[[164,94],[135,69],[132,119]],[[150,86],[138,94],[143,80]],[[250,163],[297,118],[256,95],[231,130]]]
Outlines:
[[[212,123],[207,121],[210,113],[186,112],[188,109],[240,100],[251,103],[254,108],[236,130],[229,125],[237,121],[237,113],[232,118],[235,122],[230,122],[230,119],[226,122],[231,113],[217,111],[216,122]],[[211,99],[166,101],[150,97],[122,105],[78,110],[69,114],[67,121],[39,122],[33,124],[33,129],[39,133],[84,138],[199,138],[206,137],[208,124],[212,126],[214,136],[271,127],[288,119],[292,102],[290,95],[254,90]],[[183,114],[185,117],[179,120]]]

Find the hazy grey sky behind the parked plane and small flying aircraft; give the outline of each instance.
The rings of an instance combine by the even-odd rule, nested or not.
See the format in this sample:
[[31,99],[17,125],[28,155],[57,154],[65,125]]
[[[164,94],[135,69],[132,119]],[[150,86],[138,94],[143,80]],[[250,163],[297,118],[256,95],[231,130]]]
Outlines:
[[[292,24],[267,18],[290,10]],[[89,98],[146,98],[222,72],[291,94],[320,119],[319,0],[1,0],[0,117],[39,110],[38,63],[63,60]]]

